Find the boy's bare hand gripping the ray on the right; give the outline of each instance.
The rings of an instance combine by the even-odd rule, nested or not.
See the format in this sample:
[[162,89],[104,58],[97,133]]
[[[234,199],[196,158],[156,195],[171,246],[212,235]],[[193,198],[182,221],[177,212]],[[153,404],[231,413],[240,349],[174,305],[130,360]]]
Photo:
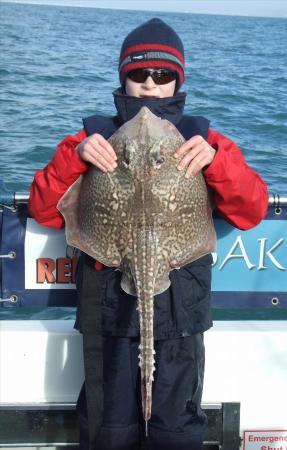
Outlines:
[[177,168],[184,170],[187,167],[185,176],[189,178],[208,166],[213,161],[215,153],[214,148],[202,136],[193,136],[176,150],[174,157],[178,158],[185,154]]

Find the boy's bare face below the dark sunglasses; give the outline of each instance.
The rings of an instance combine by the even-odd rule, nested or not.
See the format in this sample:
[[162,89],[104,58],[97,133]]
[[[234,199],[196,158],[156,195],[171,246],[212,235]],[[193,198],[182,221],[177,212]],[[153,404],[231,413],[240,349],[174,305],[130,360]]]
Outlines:
[[175,91],[176,80],[167,84],[156,84],[149,76],[144,82],[137,83],[129,77],[126,78],[126,94],[140,98],[164,98],[172,97]]

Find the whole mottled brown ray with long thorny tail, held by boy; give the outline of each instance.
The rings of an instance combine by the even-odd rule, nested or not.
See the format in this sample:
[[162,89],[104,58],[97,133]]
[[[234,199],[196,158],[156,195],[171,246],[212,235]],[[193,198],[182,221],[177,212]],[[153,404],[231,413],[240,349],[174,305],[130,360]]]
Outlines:
[[143,107],[109,142],[118,158],[117,169],[104,173],[91,167],[58,208],[65,218],[67,242],[119,268],[123,290],[137,297],[147,424],[155,370],[154,296],[169,287],[171,270],[214,250],[215,231],[201,172],[186,178],[177,170],[174,152],[184,138],[173,124]]

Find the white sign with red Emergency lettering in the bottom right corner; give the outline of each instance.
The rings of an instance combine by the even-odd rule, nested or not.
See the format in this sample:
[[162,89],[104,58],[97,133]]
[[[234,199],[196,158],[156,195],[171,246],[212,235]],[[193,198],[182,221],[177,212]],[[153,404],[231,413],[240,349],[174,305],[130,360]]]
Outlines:
[[244,431],[243,450],[287,450],[287,430]]

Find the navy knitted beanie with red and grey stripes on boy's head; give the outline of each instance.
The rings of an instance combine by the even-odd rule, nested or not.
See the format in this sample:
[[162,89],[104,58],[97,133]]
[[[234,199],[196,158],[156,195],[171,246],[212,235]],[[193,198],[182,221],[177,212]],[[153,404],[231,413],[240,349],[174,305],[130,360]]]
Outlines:
[[170,69],[177,74],[177,88],[184,81],[184,49],[178,34],[163,20],[151,19],[125,38],[119,60],[124,86],[128,72],[139,68]]

